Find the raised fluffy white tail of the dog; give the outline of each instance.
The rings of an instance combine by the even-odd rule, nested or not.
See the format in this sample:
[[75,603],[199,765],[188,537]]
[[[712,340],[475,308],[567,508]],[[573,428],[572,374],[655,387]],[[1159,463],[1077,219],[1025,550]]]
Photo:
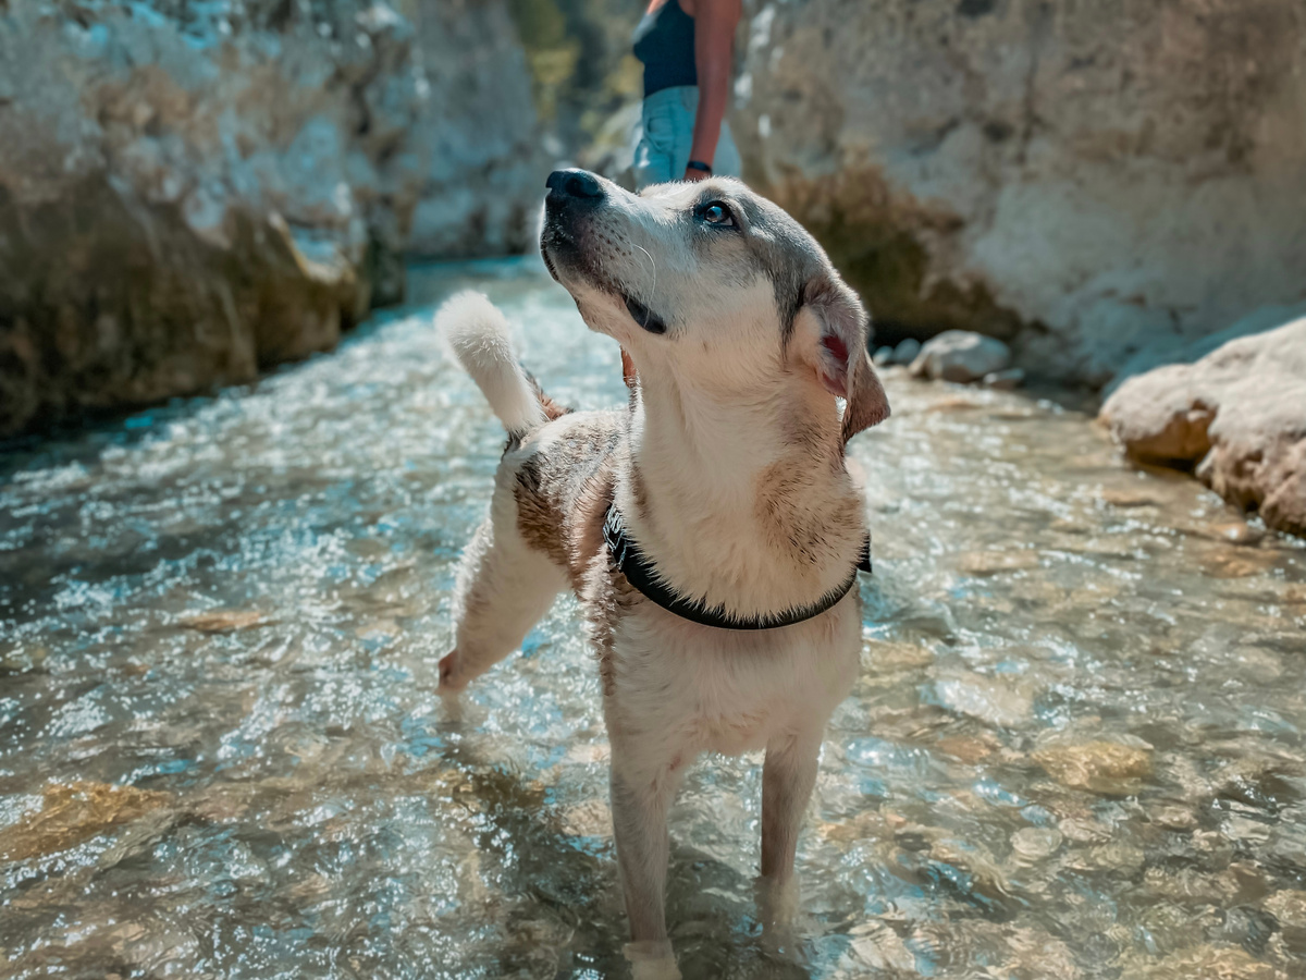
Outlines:
[[445,301],[435,327],[509,435],[524,436],[564,413],[517,363],[508,320],[482,293],[469,290]]

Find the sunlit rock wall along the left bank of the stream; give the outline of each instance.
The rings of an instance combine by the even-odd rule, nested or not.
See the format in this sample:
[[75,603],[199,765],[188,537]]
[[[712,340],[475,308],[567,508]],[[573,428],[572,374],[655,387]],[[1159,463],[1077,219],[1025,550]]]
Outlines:
[[0,0],[0,436],[252,378],[525,247],[503,0]]

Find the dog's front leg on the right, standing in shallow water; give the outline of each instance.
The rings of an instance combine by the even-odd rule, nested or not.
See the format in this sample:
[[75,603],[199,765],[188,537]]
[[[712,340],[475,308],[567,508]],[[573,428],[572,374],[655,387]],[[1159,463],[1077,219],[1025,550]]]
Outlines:
[[794,855],[807,801],[816,785],[823,732],[786,732],[767,745],[761,768],[761,912],[769,925],[788,925],[798,911]]

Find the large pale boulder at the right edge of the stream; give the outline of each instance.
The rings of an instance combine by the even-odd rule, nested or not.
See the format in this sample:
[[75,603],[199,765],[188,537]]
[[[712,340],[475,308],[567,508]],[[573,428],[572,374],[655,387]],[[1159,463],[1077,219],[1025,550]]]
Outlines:
[[1306,534],[1306,318],[1130,378],[1101,417],[1130,457]]

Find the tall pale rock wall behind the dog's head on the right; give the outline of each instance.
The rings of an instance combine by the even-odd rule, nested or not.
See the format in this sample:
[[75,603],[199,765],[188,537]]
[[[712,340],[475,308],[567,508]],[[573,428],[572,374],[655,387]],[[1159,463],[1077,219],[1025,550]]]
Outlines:
[[747,8],[747,178],[880,342],[978,329],[1100,385],[1306,298],[1299,0]]

